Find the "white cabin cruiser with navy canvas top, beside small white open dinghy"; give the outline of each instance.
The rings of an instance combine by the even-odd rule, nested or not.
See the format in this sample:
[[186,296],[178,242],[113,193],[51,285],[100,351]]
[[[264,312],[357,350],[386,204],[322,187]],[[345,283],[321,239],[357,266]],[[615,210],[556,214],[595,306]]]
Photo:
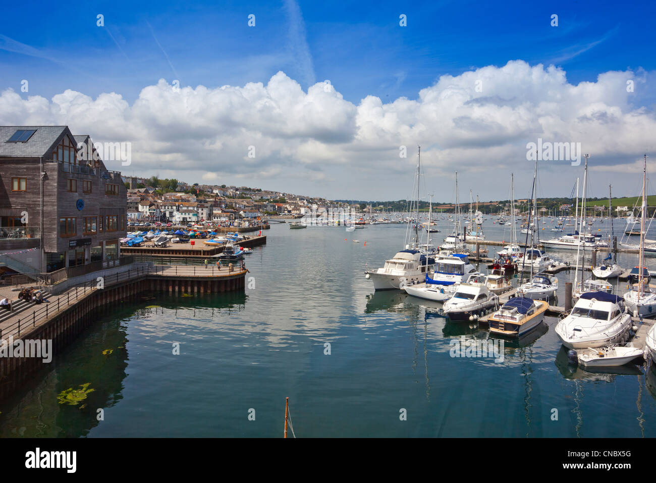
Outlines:
[[556,325],[556,334],[570,349],[617,344],[628,339],[631,316],[621,297],[605,292],[585,292],[571,313]]

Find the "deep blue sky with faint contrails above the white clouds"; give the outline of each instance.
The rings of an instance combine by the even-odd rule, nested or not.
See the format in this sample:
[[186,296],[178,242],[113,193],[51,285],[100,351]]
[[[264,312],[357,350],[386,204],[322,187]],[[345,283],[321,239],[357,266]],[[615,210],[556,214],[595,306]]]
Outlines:
[[[192,87],[266,85],[281,70],[304,91],[329,80],[350,103],[367,95],[392,103],[417,99],[445,74],[515,59],[554,64],[572,85],[614,70],[653,72],[656,62],[656,3],[646,1],[24,1],[3,9],[0,91],[23,99],[72,89],[92,98],[114,92],[133,104],[161,78]],[[29,93],[20,92],[21,80]],[[631,103],[653,112],[654,90],[636,92]]]

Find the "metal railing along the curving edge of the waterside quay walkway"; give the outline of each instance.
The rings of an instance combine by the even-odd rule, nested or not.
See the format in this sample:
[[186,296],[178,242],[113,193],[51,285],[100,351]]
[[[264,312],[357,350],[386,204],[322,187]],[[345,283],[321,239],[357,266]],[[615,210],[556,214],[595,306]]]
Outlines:
[[[237,265],[236,267],[178,267],[177,265],[170,266],[170,265],[154,265],[154,266],[141,266],[141,267],[135,267],[128,269],[126,271],[123,271],[122,273],[117,272],[114,275],[108,275],[107,277],[104,278],[104,286],[112,286],[112,285],[117,285],[123,281],[128,281],[132,279],[138,279],[140,277],[146,277],[146,276],[152,276],[152,275],[159,275],[159,276],[169,276],[165,274],[164,272],[174,268],[174,272],[171,273],[170,276],[207,276],[207,277],[213,277],[213,276],[218,276],[218,275],[239,275],[240,273],[244,273],[246,270],[245,263],[241,262],[241,265]],[[208,273],[210,272],[210,273]],[[36,327],[37,322],[39,322],[39,325],[42,320],[47,320],[51,315],[54,315],[55,313],[59,313],[61,310],[64,310],[77,302],[77,300],[80,297],[84,297],[88,293],[93,292],[94,290],[102,290],[101,288],[98,288],[98,281],[96,279],[93,279],[91,281],[87,281],[84,283],[81,283],[79,285],[76,285],[75,287],[72,287],[66,292],[66,295],[64,294],[58,296],[57,298],[57,303],[56,303],[56,310],[54,306],[50,308],[50,304],[48,302],[43,302],[45,306],[43,308],[40,308],[39,310],[33,310],[31,313],[31,316],[28,314],[26,317],[22,317],[18,319],[18,321],[12,323],[11,325],[7,327],[0,327],[0,340],[4,340],[9,338],[10,336],[20,336],[21,328],[25,329],[25,327]],[[62,302],[62,299],[65,299]],[[53,302],[54,305],[54,302]],[[23,330],[25,332],[25,330]]]

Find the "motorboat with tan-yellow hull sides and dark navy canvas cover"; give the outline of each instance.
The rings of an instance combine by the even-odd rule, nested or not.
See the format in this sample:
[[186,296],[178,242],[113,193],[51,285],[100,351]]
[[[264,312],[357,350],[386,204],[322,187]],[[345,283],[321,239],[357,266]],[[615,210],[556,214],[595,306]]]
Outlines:
[[513,297],[487,317],[490,334],[520,338],[540,325],[547,308],[544,300]]

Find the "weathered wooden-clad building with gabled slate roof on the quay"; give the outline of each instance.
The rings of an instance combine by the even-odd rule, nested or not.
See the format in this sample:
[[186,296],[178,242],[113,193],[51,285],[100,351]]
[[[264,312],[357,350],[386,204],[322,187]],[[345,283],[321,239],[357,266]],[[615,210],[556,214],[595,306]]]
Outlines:
[[43,273],[119,258],[127,190],[91,146],[68,126],[0,126],[0,257],[39,247],[5,256],[7,267]]

